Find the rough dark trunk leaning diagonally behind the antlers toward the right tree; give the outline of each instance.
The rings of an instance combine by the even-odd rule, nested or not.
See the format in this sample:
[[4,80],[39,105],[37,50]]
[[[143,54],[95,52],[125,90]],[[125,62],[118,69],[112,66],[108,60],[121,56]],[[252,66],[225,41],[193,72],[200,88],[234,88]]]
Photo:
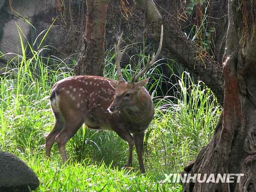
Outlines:
[[177,61],[186,67],[196,79],[204,81],[215,94],[218,102],[223,104],[224,78],[222,67],[197,44],[189,40],[175,20],[161,17],[153,0],[137,0],[137,9],[146,12],[148,23],[153,29],[154,37],[160,38],[160,26],[163,24],[163,45]]

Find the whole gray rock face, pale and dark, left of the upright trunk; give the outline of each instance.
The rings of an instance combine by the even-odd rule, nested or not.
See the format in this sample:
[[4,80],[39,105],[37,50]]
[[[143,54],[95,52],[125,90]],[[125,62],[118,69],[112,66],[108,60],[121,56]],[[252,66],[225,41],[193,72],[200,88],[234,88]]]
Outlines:
[[[81,23],[85,15],[84,0],[73,0],[71,3],[72,25],[70,13],[58,9],[59,6],[67,7],[68,1],[63,1],[64,4],[56,0],[12,0],[11,2],[10,7],[9,0],[0,0],[0,75],[6,71],[7,62],[12,61],[8,67],[15,68],[17,60],[12,59],[17,55],[22,55],[17,26],[22,31],[22,43],[26,47],[25,54],[28,58],[32,56],[32,53],[27,43],[29,42],[33,50],[38,51],[38,45],[45,34],[42,31],[48,29],[55,18],[55,23],[40,47],[49,45],[48,49],[42,49],[40,55],[44,58],[54,55],[65,61],[70,55],[73,58],[78,55],[82,44],[79,39],[82,38],[83,24]],[[64,24],[64,22],[67,23]],[[41,35],[38,37],[39,34]],[[1,57],[2,54],[5,56]],[[49,64],[48,61],[46,63]]]

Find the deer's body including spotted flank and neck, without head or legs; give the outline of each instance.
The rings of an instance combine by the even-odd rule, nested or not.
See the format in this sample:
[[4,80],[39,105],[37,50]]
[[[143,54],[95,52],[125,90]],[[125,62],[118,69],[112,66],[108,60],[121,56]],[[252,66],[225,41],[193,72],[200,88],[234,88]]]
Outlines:
[[108,108],[114,100],[116,85],[117,81],[100,76],[73,76],[58,81],[52,87],[52,111],[64,119],[77,116],[90,129],[115,131],[119,122],[129,133],[145,131],[154,116],[148,91],[144,87],[140,90],[133,108],[111,113]]

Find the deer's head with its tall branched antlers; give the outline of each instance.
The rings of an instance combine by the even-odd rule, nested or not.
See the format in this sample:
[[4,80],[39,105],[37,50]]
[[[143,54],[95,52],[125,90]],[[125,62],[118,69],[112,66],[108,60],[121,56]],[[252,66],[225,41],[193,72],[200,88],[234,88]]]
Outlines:
[[[149,96],[148,92],[145,90],[144,85],[148,82],[148,79],[144,79],[140,82],[136,82],[143,73],[145,73],[157,60],[158,55],[160,54],[162,43],[163,43],[163,26],[161,30],[161,36],[160,36],[160,44],[157,50],[157,53],[152,56],[152,59],[150,62],[146,64],[146,67],[140,71],[137,75],[134,75],[132,77],[131,82],[125,82],[123,80],[121,67],[120,67],[120,61],[122,58],[123,53],[125,52],[125,49],[121,52],[119,45],[122,41],[122,34],[119,37],[119,41],[116,48],[116,69],[119,77],[119,81],[116,85],[115,90],[115,99],[111,103],[111,105],[108,108],[108,111],[111,113],[116,113],[118,111],[122,110],[132,110],[137,111],[139,108],[139,105],[143,102],[152,102],[151,97]],[[148,56],[149,60],[149,56]]]

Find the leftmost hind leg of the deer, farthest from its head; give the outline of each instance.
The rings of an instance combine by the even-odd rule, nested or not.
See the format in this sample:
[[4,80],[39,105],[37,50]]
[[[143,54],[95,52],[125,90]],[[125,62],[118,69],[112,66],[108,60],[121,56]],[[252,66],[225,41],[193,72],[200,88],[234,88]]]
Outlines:
[[59,134],[61,129],[64,127],[64,119],[60,113],[53,112],[55,116],[55,125],[52,131],[45,137],[45,154],[46,157],[50,158],[51,156],[51,149],[53,144],[55,143],[55,137]]

